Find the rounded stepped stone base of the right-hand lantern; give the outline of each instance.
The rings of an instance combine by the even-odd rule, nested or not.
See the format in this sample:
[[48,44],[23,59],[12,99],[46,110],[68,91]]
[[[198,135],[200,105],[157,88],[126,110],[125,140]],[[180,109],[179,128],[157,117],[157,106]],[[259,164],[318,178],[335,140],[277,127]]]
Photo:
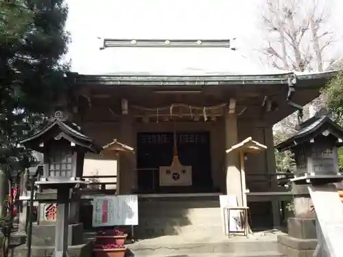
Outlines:
[[317,245],[316,219],[289,218],[288,234],[278,236],[278,248],[288,257],[307,257]]

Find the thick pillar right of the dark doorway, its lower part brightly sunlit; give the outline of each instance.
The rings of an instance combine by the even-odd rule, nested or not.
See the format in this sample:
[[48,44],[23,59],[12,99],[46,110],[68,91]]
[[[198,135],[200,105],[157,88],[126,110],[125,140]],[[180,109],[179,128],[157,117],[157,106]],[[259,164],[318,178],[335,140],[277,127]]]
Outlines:
[[[230,149],[238,142],[237,115],[225,115],[225,149]],[[226,154],[226,194],[236,195],[239,206],[243,206],[241,197],[241,173],[239,154],[235,151]]]

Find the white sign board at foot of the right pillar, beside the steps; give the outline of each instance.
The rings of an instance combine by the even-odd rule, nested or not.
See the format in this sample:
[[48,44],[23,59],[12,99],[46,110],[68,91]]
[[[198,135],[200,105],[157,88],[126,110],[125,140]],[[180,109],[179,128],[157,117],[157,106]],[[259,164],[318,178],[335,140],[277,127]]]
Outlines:
[[237,197],[235,195],[220,195],[219,200],[220,200],[220,211],[222,212],[222,223],[224,227],[224,233],[228,234],[228,221],[230,221],[230,231],[244,232],[244,225],[242,222],[241,211],[230,210],[230,219],[229,219],[228,211],[224,209],[224,208],[238,207]]

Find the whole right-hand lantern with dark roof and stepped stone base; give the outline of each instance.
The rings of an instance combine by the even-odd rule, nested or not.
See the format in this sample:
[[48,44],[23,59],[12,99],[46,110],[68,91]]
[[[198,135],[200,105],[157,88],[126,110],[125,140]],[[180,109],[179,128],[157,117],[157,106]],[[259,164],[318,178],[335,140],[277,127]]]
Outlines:
[[294,136],[276,146],[279,151],[292,151],[296,161],[292,180],[295,217],[288,219],[288,235],[279,236],[278,241],[280,251],[287,256],[309,256],[316,249],[317,233],[316,212],[307,184],[342,180],[338,147],[343,145],[343,128],[322,112],[297,129]]

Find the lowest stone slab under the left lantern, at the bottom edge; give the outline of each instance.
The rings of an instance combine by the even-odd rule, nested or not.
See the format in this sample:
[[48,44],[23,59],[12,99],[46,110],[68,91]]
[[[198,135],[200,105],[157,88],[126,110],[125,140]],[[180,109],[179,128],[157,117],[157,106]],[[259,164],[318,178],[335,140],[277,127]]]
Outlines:
[[[53,256],[55,251],[54,246],[32,246],[31,256],[32,257],[46,257]],[[92,257],[93,255],[93,243],[89,241],[88,243],[82,245],[71,245],[68,247],[69,257]],[[14,248],[14,257],[27,257],[27,247],[26,245],[21,245]]]

